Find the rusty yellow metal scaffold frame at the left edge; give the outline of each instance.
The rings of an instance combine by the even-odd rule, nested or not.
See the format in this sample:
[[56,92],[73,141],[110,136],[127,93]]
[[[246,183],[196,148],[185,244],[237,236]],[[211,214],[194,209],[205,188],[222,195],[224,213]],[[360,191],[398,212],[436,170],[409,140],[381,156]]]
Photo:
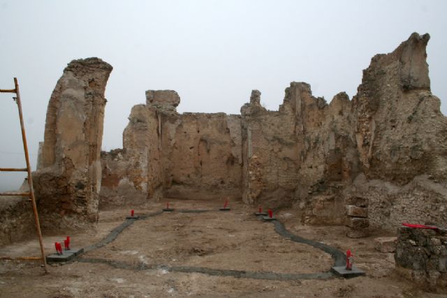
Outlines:
[[15,97],[13,97],[15,103],[17,103],[17,107],[19,109],[19,118],[20,118],[20,128],[22,128],[22,141],[23,141],[23,150],[25,154],[25,160],[27,161],[27,167],[24,168],[7,168],[0,167],[0,172],[28,172],[28,184],[29,184],[29,192],[22,193],[0,193],[0,196],[21,196],[21,197],[29,197],[31,200],[31,204],[33,206],[34,212],[34,221],[36,223],[36,232],[39,238],[39,244],[41,246],[41,257],[19,257],[19,258],[8,258],[2,257],[2,260],[42,260],[43,269],[45,273],[48,273],[47,269],[47,260],[45,259],[45,250],[43,248],[43,239],[41,232],[41,224],[39,223],[39,216],[37,214],[36,207],[36,198],[34,197],[34,188],[33,188],[33,178],[31,177],[31,165],[29,165],[29,154],[28,154],[28,146],[27,146],[27,135],[25,134],[25,126],[23,124],[23,115],[22,115],[22,103],[20,102],[20,91],[19,84],[17,83],[17,77],[14,77],[14,89],[0,89],[0,93],[13,93]]

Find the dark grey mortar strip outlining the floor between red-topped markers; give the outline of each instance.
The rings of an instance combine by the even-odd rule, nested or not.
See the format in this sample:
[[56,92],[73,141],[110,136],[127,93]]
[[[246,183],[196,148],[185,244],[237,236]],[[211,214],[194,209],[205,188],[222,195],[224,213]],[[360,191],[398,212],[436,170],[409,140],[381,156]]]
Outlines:
[[[203,213],[214,210],[176,210],[179,213]],[[138,218],[129,218],[124,221],[121,225],[117,226],[117,228],[113,229],[107,237],[98,241],[96,244],[92,244],[90,246],[86,246],[84,248],[84,253],[88,251],[94,251],[95,249],[101,248],[107,244],[110,244],[112,241],[117,239],[118,235],[123,232],[130,225],[133,225],[135,221],[145,220],[152,216],[157,216],[163,214],[163,211],[154,212],[151,214],[142,214]],[[332,246],[328,246],[327,244],[323,244],[318,241],[305,239],[299,237],[295,234],[292,234],[288,230],[283,223],[274,220],[274,230],[282,237],[287,239],[291,239],[291,241],[295,241],[302,244],[307,244],[309,246],[313,246],[315,248],[321,249],[325,253],[329,253],[332,259],[335,261],[335,266],[344,266],[346,265],[346,256],[342,251],[339,251],[337,248]],[[208,274],[212,276],[233,276],[235,278],[254,278],[254,279],[267,279],[272,281],[293,281],[299,279],[328,279],[334,277],[334,275],[330,271],[321,272],[321,273],[311,273],[311,274],[284,274],[284,273],[274,273],[274,272],[252,272],[252,271],[243,271],[243,270],[228,270],[228,269],[210,269],[205,267],[189,267],[189,266],[166,266],[166,265],[145,265],[143,263],[138,263],[138,265],[131,265],[126,262],[119,262],[113,260],[99,259],[99,258],[76,258],[78,262],[89,262],[89,263],[101,263],[110,265],[117,269],[133,269],[133,270],[147,270],[147,269],[166,269],[171,272],[184,272],[184,273],[201,273]]]

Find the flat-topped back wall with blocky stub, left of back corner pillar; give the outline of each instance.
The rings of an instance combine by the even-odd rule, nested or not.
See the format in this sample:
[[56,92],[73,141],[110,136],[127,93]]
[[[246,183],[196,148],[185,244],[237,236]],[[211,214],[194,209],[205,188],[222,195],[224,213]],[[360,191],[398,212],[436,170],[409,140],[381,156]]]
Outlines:
[[240,116],[178,114],[175,91],[146,91],[123,134],[123,149],[102,153],[101,206],[149,198],[240,198]]

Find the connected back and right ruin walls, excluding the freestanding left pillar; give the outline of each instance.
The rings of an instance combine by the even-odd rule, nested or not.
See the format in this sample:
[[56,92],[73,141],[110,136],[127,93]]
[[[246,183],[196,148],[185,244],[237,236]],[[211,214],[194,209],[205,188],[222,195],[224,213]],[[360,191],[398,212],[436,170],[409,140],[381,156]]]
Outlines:
[[[293,206],[304,223],[343,224],[345,200],[357,197],[369,200],[376,228],[394,231],[403,221],[446,225],[447,119],[430,92],[429,39],[413,33],[395,51],[373,57],[352,100],[342,92],[327,104],[312,96],[309,84],[292,82],[278,111],[265,110],[254,90],[240,116],[177,114],[175,91],[147,91],[146,105],[129,117],[123,151],[134,152],[124,160],[135,165],[153,150],[154,158],[138,164],[154,175],[118,176],[147,199],[230,196]],[[159,191],[138,189],[140,181]],[[101,202],[110,202],[103,190]],[[119,195],[133,203],[126,191]]]

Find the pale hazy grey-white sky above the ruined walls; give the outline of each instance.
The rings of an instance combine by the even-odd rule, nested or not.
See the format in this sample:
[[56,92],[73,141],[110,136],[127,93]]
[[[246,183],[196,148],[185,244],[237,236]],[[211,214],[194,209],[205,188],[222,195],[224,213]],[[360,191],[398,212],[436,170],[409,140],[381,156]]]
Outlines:
[[[430,33],[432,92],[447,112],[447,1],[0,0],[0,88],[17,77],[33,168],[47,103],[66,64],[100,57],[114,70],[103,150],[122,147],[131,107],[147,89],[174,89],[179,112],[239,114],[251,89],[277,110],[291,81],[328,102],[352,98],[362,70],[413,31]],[[17,109],[0,94],[0,167],[23,167]],[[0,191],[24,174],[0,173]]]

